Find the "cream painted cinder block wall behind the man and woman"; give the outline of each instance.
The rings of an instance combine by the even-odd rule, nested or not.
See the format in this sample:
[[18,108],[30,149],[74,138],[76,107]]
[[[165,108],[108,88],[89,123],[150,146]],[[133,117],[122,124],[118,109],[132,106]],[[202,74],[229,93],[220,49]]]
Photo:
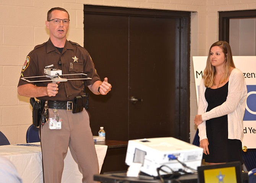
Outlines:
[[[35,45],[48,40],[47,11],[60,6],[70,13],[68,40],[83,45],[83,5],[191,11],[191,58],[206,56],[218,39],[218,11],[256,9],[256,0],[0,0],[0,130],[11,144],[25,143],[32,123],[29,99],[17,94],[21,67]],[[191,59],[191,138],[197,111]]]

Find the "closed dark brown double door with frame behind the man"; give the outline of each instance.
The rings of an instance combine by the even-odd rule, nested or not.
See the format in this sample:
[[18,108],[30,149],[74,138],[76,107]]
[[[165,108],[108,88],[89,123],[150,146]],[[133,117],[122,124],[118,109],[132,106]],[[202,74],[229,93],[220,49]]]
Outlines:
[[84,6],[84,47],[113,86],[106,96],[89,92],[94,135],[104,126],[109,140],[188,141],[189,16],[167,14]]

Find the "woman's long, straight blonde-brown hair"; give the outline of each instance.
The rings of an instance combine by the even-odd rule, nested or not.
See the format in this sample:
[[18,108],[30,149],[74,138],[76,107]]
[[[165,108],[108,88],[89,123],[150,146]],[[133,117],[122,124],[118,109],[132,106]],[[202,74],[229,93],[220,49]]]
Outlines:
[[[230,45],[226,41],[217,41],[212,44],[211,48],[214,46],[219,46],[225,56],[225,62],[224,62],[224,76],[220,80],[220,83],[223,83],[227,80],[228,76],[230,75],[230,67],[235,68],[235,64],[233,62],[233,57],[232,57],[232,51],[230,48]],[[206,62],[206,67],[204,69],[204,86],[211,88],[214,84],[214,78],[215,78],[215,67],[212,66],[211,64],[211,48],[209,49],[208,57],[207,57],[207,62]]]

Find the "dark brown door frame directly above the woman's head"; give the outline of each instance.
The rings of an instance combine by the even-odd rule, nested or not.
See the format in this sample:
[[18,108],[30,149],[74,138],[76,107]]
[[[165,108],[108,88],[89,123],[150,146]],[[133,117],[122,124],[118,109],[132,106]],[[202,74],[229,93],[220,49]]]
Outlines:
[[256,11],[219,11],[219,40],[229,43],[229,21],[233,18],[256,18]]

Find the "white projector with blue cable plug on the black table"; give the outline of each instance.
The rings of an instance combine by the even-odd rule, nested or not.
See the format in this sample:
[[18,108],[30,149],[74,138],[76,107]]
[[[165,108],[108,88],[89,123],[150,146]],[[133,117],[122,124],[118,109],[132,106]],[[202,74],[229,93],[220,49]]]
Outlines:
[[203,148],[182,140],[173,137],[144,138],[128,141],[125,163],[129,166],[141,163],[141,172],[157,177],[157,168],[162,165],[165,165],[162,169],[166,172],[159,171],[160,175],[172,174],[170,169],[190,172],[186,167],[196,170],[201,166],[202,158]]

